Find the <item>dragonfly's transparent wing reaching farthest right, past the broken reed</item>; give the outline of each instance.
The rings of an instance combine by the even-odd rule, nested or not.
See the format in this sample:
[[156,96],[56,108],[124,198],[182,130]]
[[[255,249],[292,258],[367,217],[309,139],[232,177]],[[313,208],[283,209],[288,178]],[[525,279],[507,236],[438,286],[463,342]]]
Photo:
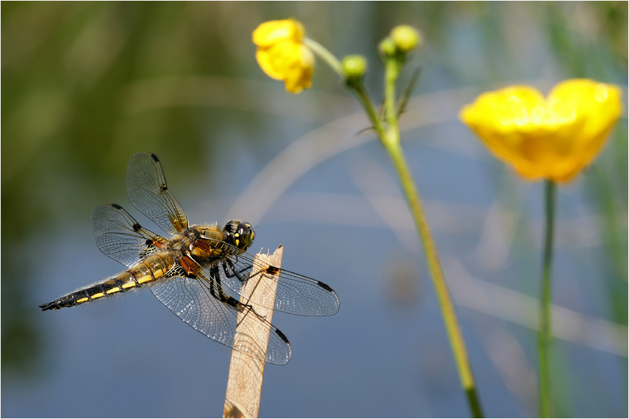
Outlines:
[[[224,246],[232,247],[229,250],[233,253],[237,251],[230,244],[224,243]],[[272,281],[277,281],[275,304],[266,308],[299,316],[331,316],[340,308],[338,295],[323,282],[260,263],[248,253],[230,256],[217,264],[217,274],[212,275],[209,267],[203,267],[203,274],[238,294],[245,281],[259,280],[259,287],[271,286]]]

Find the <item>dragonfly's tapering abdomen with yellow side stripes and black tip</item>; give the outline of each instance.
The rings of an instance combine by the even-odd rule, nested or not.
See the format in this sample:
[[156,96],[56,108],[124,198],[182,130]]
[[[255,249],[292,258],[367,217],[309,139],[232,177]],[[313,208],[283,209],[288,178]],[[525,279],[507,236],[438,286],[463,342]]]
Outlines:
[[124,293],[124,291],[138,288],[164,277],[166,272],[171,270],[174,265],[175,260],[173,260],[170,255],[157,253],[140,261],[137,265],[132,266],[129,270],[122,272],[122,274],[116,277],[69,293],[48,304],[42,304],[39,307],[41,307],[42,310],[58,310],[64,307],[73,307],[85,302],[99,300],[100,298],[110,295]]

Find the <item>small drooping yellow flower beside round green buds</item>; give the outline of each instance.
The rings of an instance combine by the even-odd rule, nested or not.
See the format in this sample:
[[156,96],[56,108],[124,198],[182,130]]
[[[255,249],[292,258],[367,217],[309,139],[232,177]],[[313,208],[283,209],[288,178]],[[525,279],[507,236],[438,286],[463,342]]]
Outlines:
[[284,80],[291,93],[299,93],[312,85],[315,56],[303,45],[305,31],[294,19],[271,20],[253,32],[257,45],[256,60],[270,78]]

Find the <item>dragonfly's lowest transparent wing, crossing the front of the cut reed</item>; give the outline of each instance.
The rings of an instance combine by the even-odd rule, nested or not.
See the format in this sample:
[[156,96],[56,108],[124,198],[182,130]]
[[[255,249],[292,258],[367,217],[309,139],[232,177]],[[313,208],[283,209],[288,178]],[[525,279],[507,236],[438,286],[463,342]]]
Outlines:
[[[164,278],[152,283],[150,289],[182,321],[217,342],[271,364],[284,365],[291,359],[291,345],[280,330],[231,296],[223,294],[219,300],[215,295],[222,289],[211,280],[201,276]],[[249,318],[236,335],[239,311]],[[268,335],[266,358],[261,350],[264,335]]]

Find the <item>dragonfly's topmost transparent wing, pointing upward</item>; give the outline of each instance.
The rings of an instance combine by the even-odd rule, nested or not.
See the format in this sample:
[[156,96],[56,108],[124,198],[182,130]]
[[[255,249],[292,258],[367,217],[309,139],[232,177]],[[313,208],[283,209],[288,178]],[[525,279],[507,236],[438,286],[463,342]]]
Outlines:
[[186,212],[168,191],[161,163],[154,154],[131,156],[126,169],[126,191],[133,206],[166,233],[175,235],[188,227]]

